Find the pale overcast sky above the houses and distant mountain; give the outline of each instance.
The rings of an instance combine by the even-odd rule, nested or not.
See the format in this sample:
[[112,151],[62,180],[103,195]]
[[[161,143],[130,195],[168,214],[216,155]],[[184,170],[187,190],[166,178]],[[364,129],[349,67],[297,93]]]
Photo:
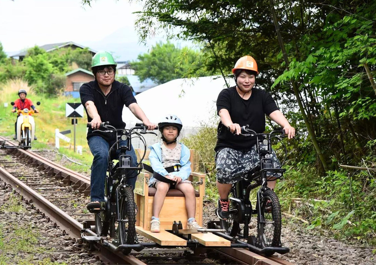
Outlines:
[[73,41],[111,51],[117,60],[135,60],[165,41],[160,34],[146,46],[139,43],[132,14],[139,10],[139,4],[127,0],[93,0],[91,7],[81,0],[0,0],[0,42],[9,55],[34,45]]

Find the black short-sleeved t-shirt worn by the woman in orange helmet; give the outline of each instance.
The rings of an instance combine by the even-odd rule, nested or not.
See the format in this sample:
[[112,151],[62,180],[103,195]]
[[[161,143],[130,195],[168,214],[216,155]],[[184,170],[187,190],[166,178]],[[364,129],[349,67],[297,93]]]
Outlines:
[[[249,125],[249,129],[257,133],[265,131],[265,114],[278,110],[273,97],[258,88],[252,88],[252,94],[249,99],[242,99],[238,94],[236,87],[225,88],[217,99],[217,114],[221,109],[229,111],[233,123],[240,126]],[[255,137],[246,137],[243,135],[233,135],[226,126],[220,122],[217,130],[217,145],[214,150],[230,147],[235,150],[248,150],[256,144]]]

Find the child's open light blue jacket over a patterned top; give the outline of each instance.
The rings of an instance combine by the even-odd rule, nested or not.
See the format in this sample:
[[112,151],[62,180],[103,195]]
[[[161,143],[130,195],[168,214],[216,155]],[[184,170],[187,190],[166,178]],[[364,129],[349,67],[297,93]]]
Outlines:
[[[181,143],[179,143],[181,144]],[[180,157],[180,163],[177,163],[176,165],[180,165],[181,168],[179,171],[171,172],[170,174],[175,175],[177,177],[182,178],[182,180],[187,180],[188,177],[191,174],[191,162],[189,160],[191,153],[184,144],[182,145],[182,153]],[[157,142],[153,144],[150,148],[150,154],[149,154],[149,160],[152,165],[152,168],[155,172],[158,174],[161,174],[162,176],[166,176],[169,173],[164,169],[162,165],[162,148],[161,148],[161,142]],[[155,182],[155,178],[150,178],[149,183]]]

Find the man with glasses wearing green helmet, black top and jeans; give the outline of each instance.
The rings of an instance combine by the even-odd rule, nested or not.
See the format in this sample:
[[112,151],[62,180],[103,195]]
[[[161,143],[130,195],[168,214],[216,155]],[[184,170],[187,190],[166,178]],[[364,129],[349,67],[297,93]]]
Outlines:
[[[92,58],[91,71],[95,80],[83,84],[80,87],[82,105],[85,106],[88,116],[88,123],[91,128],[88,130],[88,145],[94,156],[91,168],[90,201],[88,208],[99,208],[100,202],[104,202],[105,176],[108,168],[108,150],[115,143],[115,134],[93,132],[99,129],[102,122],[109,123],[117,129],[125,127],[121,117],[124,105],[141,120],[149,130],[155,128],[138,106],[132,90],[125,84],[115,81],[117,64],[109,52],[97,52]],[[120,145],[126,145],[126,141],[120,141]],[[137,165],[135,151],[127,151],[132,157],[132,166]],[[128,184],[133,188],[136,182],[136,172],[128,178]]]

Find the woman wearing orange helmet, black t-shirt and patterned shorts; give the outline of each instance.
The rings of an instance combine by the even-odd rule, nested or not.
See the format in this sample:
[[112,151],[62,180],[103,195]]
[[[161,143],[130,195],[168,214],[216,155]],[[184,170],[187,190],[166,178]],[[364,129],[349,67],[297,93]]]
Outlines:
[[[241,57],[232,69],[236,86],[226,88],[220,92],[217,99],[217,113],[221,118],[217,130],[217,145],[215,146],[215,164],[217,169],[217,188],[220,198],[216,211],[220,219],[229,216],[228,195],[233,183],[245,177],[246,172],[254,168],[258,156],[256,139],[241,138],[241,126],[257,133],[265,130],[265,114],[285,130],[288,138],[295,135],[285,116],[279,111],[271,95],[262,89],[255,88],[258,68],[255,59],[246,55]],[[235,135],[236,134],[236,135]],[[275,153],[271,154],[274,167],[280,166]],[[276,181],[269,181],[268,187],[274,189]]]

